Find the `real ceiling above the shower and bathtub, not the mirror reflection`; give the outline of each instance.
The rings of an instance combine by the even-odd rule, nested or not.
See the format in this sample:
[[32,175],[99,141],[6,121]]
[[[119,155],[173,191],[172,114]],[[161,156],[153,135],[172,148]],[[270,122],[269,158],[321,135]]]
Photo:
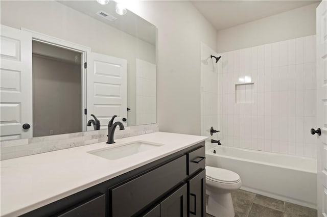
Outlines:
[[217,30],[272,16],[320,1],[191,1]]

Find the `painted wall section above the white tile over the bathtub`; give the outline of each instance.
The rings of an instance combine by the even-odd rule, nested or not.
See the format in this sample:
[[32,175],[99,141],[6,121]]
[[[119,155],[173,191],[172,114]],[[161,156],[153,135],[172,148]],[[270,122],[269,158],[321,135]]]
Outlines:
[[284,41],[316,34],[318,3],[237,25],[217,32],[217,51]]

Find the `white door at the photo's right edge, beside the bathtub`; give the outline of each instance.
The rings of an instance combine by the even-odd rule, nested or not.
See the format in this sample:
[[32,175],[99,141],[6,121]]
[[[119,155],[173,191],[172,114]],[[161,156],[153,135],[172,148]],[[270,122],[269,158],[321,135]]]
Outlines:
[[318,216],[327,217],[327,3],[317,8]]

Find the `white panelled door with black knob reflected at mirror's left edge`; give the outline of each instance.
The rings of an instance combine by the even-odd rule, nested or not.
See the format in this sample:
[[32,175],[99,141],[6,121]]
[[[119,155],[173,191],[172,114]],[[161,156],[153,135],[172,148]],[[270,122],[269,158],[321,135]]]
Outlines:
[[32,138],[32,35],[1,25],[0,45],[0,140]]

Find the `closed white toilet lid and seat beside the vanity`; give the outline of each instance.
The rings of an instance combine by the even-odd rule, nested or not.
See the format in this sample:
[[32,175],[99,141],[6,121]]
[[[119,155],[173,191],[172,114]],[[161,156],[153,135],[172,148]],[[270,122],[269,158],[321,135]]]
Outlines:
[[217,182],[222,182],[222,183],[236,183],[240,181],[240,176],[239,174],[232,172],[230,170],[225,170],[222,168],[217,168],[217,167],[205,167],[205,176],[206,178],[212,180],[212,181],[217,181]]

